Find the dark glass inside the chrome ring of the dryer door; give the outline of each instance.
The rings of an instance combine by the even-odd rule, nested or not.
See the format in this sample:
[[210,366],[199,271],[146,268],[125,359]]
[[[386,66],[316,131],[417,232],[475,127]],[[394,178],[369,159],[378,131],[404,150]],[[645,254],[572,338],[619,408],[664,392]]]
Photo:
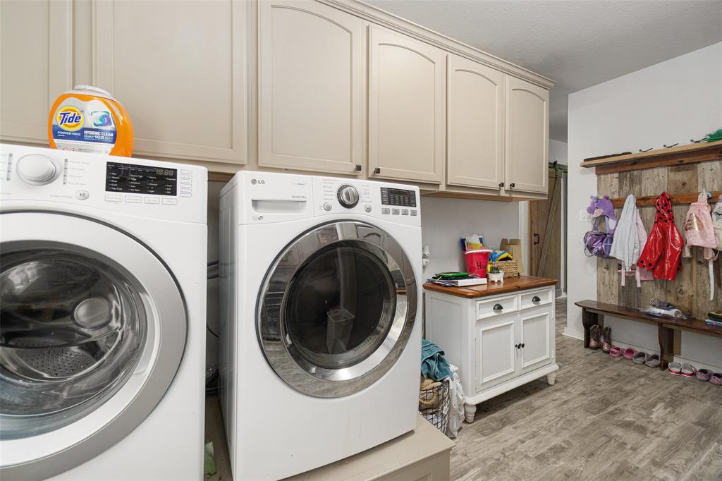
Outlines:
[[287,288],[284,328],[309,363],[339,369],[368,358],[396,310],[391,272],[378,256],[334,243],[301,266]]

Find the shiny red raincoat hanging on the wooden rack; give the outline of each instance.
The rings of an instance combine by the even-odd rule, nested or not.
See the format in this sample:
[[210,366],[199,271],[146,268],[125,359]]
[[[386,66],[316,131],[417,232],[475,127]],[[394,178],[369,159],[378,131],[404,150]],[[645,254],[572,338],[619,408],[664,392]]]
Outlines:
[[654,225],[637,266],[652,271],[655,279],[674,280],[677,271],[682,270],[682,235],[674,225],[669,194],[662,192],[654,205]]

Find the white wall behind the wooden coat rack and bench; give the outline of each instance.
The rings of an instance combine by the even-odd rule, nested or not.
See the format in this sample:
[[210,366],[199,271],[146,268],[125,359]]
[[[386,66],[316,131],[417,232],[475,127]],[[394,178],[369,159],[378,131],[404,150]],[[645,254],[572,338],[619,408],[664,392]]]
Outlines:
[[[579,167],[585,157],[660,148],[722,127],[722,43],[632,72],[569,96],[569,220],[565,333],[582,335],[581,310],[574,302],[596,298],[596,260],[583,254],[589,222],[579,221],[589,196],[597,194],[593,169]],[[613,323],[619,345],[658,349],[656,329],[640,323]],[[682,335],[682,357],[697,365],[722,366],[719,339],[694,342]],[[692,343],[692,344],[690,344]]]

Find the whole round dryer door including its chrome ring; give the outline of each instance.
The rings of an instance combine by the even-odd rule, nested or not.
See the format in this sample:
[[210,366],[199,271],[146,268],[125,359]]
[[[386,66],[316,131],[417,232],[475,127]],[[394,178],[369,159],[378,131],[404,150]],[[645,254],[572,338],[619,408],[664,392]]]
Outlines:
[[417,283],[388,233],[364,222],[321,225],[277,258],[258,305],[261,347],[293,388],[317,397],[365,389],[403,352]]

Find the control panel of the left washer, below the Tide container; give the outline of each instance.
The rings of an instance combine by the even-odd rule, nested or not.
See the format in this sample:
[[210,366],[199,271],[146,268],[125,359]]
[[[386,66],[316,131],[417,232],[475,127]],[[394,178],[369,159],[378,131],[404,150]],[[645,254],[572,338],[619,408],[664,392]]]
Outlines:
[[206,197],[203,167],[0,144],[2,201],[59,202],[163,220],[205,222]]

